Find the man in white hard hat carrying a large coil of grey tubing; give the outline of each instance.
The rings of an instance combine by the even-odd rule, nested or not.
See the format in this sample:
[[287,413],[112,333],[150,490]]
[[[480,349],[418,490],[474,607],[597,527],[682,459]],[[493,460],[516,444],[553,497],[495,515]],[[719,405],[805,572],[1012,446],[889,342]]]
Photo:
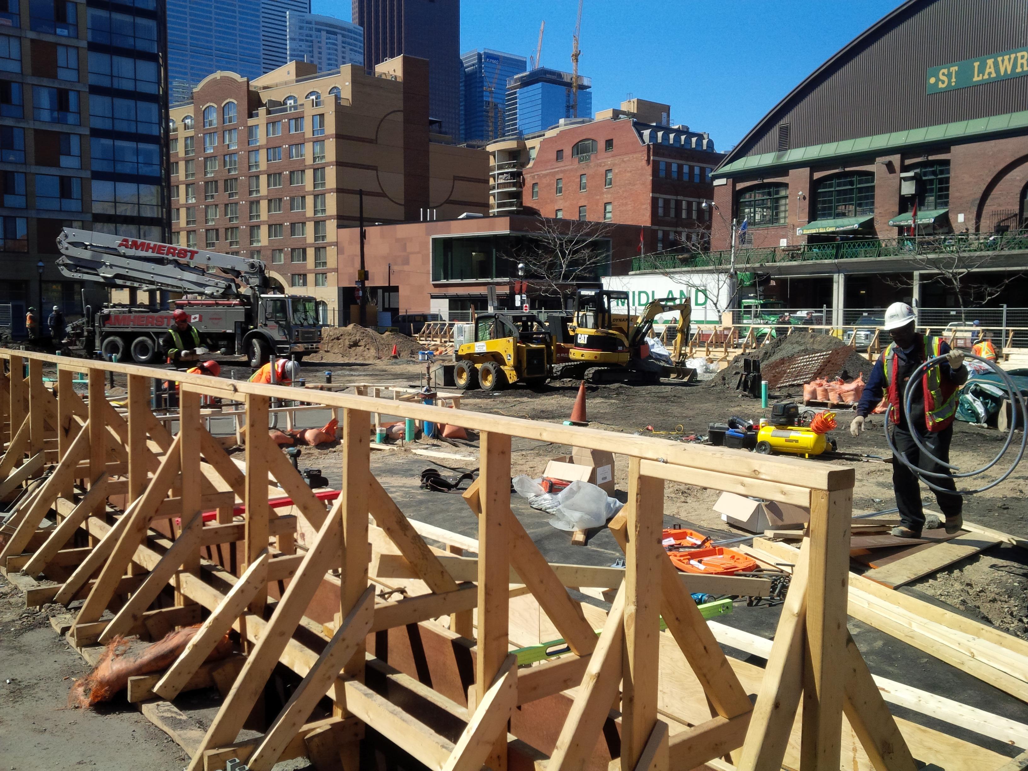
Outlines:
[[[905,302],[893,302],[886,309],[885,329],[892,342],[875,362],[849,433],[854,437],[860,435],[865,418],[884,393],[888,396],[889,424],[896,450],[923,471],[949,474],[949,469],[921,452],[912,438],[912,432],[917,432],[921,443],[931,454],[943,463],[949,463],[953,417],[957,411],[960,386],[967,379],[967,368],[963,364],[963,352],[951,351],[949,344],[938,337],[920,334],[915,331],[916,324],[914,309]],[[924,371],[920,387],[915,387],[913,392],[911,412],[907,414],[904,392],[910,376],[922,363],[938,356],[945,356],[946,359]],[[935,500],[946,515],[946,531],[956,533],[963,524],[960,514],[963,501],[955,493],[953,477],[926,479],[939,487],[954,490],[953,493],[935,491]],[[920,538],[925,518],[918,475],[896,460],[892,464],[892,486],[901,522],[900,527],[892,528],[892,535]]]

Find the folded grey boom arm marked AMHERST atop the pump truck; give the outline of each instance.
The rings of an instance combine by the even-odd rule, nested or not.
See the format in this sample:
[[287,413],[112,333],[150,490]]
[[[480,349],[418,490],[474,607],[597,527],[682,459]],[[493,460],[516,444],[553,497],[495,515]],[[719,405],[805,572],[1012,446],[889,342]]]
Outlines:
[[69,227],[58,236],[58,249],[62,273],[111,287],[224,297],[243,285],[267,286],[263,262],[218,252]]

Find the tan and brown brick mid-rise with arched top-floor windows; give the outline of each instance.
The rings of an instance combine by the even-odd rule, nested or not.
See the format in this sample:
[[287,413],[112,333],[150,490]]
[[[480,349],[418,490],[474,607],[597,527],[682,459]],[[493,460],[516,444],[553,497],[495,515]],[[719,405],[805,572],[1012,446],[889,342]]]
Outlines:
[[[333,321],[340,227],[486,211],[488,156],[430,134],[428,62],[216,72],[171,110],[173,241],[263,259]],[[431,215],[430,215],[431,213]],[[353,287],[356,276],[342,283]]]

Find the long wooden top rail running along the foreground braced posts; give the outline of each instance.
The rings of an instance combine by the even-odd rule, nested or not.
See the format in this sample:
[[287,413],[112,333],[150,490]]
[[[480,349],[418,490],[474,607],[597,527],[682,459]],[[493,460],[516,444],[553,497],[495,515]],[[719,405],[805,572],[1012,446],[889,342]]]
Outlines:
[[[294,389],[286,386],[225,380],[209,375],[161,370],[138,364],[70,360],[50,356],[0,348],[0,359],[19,357],[69,367],[77,371],[103,370],[124,375],[143,375],[176,380],[183,391],[198,392],[208,396],[240,399],[246,395],[265,396],[273,399],[323,404],[365,412],[380,412],[417,420],[444,423],[474,431],[516,436],[541,442],[553,442],[576,447],[608,450],[610,452],[651,461],[646,475],[672,479],[690,484],[701,484],[714,489],[731,490],[745,495],[760,495],[786,503],[808,505],[809,490],[842,490],[853,487],[854,471],[851,468],[832,466],[818,461],[758,455],[751,452],[689,445],[657,437],[630,436],[612,431],[561,426],[508,417],[465,409],[428,406],[392,399],[354,396],[326,391]],[[667,466],[665,473],[660,473]],[[685,467],[701,475],[685,474]],[[788,480],[783,482],[782,480]]]

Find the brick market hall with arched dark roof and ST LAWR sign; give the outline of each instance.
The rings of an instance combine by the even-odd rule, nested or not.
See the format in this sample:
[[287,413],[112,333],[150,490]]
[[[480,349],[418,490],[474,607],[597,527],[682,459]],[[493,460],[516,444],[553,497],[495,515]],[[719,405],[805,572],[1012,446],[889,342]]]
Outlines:
[[[844,308],[896,299],[958,305],[933,250],[996,246],[975,258],[976,281],[1008,282],[1028,265],[1016,237],[1028,215],[1025,40],[1028,0],[905,2],[728,153],[713,175],[712,249],[729,250],[732,221],[745,220],[737,262],[766,266],[767,296],[827,304],[840,323]],[[1024,280],[1004,286],[992,301],[1023,306]]]

